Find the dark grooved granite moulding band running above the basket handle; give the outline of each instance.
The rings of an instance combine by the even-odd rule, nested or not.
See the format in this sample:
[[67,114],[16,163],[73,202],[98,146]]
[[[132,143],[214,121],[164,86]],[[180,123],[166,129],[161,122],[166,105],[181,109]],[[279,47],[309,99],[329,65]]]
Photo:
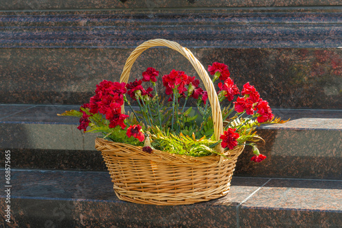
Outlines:
[[272,10],[3,12],[3,48],[134,48],[166,38],[189,48],[337,48],[341,7]]

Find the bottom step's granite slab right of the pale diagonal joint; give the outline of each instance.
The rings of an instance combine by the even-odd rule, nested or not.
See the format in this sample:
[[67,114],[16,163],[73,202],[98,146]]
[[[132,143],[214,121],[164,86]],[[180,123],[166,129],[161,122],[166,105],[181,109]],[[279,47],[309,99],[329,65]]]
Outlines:
[[342,182],[272,179],[241,205],[240,227],[341,227]]

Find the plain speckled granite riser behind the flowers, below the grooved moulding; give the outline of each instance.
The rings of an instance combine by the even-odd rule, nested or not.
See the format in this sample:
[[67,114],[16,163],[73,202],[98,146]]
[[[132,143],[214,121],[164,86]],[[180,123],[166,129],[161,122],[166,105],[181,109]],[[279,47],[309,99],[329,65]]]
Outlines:
[[[186,46],[185,46],[186,47]],[[1,103],[88,103],[103,79],[119,81],[133,49],[0,49]],[[250,82],[272,107],[336,109],[342,107],[342,49],[191,49],[207,68],[228,64],[241,89]],[[196,72],[170,49],[149,49],[132,68],[130,80],[146,68],[160,75],[172,69]],[[15,70],[14,70],[15,69]],[[203,85],[202,83],[200,85]],[[165,94],[161,79],[159,94]],[[189,105],[190,104],[189,100]]]

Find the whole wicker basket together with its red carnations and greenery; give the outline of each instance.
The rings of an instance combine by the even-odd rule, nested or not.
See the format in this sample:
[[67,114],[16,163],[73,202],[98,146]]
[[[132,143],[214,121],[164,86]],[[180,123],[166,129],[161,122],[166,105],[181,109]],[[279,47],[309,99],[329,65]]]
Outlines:
[[[179,51],[203,82],[183,71],[161,77],[166,97],[156,89],[159,71],[147,68],[128,83],[137,57],[150,47]],[[90,102],[63,116],[79,117],[79,129],[96,131],[119,199],[157,205],[192,204],[228,193],[237,157],[245,145],[261,162],[256,127],[282,123],[249,83],[240,91],[228,66],[214,62],[212,77],[188,49],[169,40],[148,40],[129,55],[120,82],[102,81]],[[216,92],[215,85],[218,88]],[[191,101],[192,105],[187,106]],[[131,105],[134,103],[134,106]],[[222,108],[222,102],[227,103]],[[221,103],[221,104],[220,104]],[[196,105],[195,105],[196,104]],[[129,112],[124,112],[128,105]]]

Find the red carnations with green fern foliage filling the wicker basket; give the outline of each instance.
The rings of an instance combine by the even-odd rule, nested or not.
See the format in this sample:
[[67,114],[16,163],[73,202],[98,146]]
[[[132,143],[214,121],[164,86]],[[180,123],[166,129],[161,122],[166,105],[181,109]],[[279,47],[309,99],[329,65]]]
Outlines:
[[[208,66],[208,71],[213,83],[218,83],[219,101],[230,103],[221,110],[224,134],[220,135],[220,140],[215,140],[207,91],[200,87],[196,77],[183,71],[172,70],[161,77],[168,96],[166,102],[162,102],[156,89],[159,71],[149,67],[141,79],[127,84],[101,81],[89,103],[62,116],[77,116],[80,118],[78,129],[101,132],[107,140],[140,146],[146,153],[158,149],[194,157],[214,153],[225,156],[214,148],[220,145],[227,151],[247,144],[253,148],[251,160],[261,162],[265,155],[259,153],[255,144],[262,140],[255,132],[256,127],[284,121],[274,118],[267,101],[261,99],[249,82],[239,90],[226,64],[214,62]],[[187,107],[189,99],[196,101],[196,107]],[[132,107],[131,102],[135,102],[139,110]],[[128,114],[123,112],[124,103],[131,109]]]

